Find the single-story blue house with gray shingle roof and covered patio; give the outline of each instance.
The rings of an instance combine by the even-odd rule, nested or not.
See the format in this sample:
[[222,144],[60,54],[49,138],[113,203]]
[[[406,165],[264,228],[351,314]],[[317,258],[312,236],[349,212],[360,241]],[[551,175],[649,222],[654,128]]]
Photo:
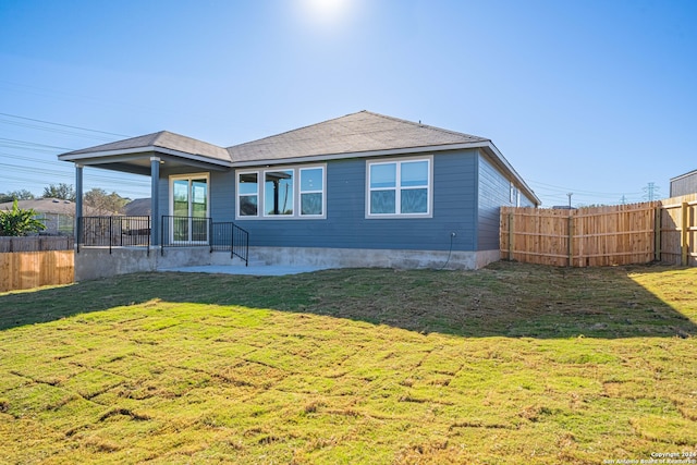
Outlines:
[[181,262],[224,261],[193,252],[217,249],[213,223],[246,231],[267,264],[476,269],[499,259],[499,207],[540,204],[490,139],[369,111],[228,148],[159,132],[59,159],[78,199],[83,167],[150,176],[146,269],[170,245]]

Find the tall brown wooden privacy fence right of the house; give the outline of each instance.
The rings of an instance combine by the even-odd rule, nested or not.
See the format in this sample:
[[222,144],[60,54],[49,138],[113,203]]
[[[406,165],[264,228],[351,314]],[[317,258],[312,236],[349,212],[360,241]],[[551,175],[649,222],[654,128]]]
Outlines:
[[697,194],[577,210],[501,208],[501,257],[598,267],[664,261],[697,266]]

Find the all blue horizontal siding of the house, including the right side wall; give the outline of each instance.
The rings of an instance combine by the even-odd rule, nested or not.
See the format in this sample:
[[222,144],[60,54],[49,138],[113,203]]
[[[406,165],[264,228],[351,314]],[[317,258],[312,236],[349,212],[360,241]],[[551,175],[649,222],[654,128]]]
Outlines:
[[[431,218],[367,219],[366,160],[333,160],[326,167],[326,218],[237,220],[240,227],[249,231],[250,245],[448,250],[454,232],[454,250],[498,248],[499,207],[511,205],[510,183],[476,149],[433,156]],[[185,173],[185,170],[161,173],[161,215],[168,215],[170,208],[169,176]],[[213,220],[235,221],[235,201],[234,171],[211,172],[210,213]]]

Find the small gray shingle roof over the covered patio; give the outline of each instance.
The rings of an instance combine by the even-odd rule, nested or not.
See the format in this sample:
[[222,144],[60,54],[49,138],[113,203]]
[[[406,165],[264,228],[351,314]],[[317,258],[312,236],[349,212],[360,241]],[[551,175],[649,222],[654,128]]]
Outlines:
[[230,161],[230,155],[224,148],[193,137],[170,133],[169,131],[160,131],[159,133],[146,134],[144,136],[117,140],[109,144],[98,145],[96,147],[83,148],[81,150],[63,154],[63,156],[129,149],[133,149],[135,151],[139,148],[148,149],[149,147],[160,147],[163,149],[213,158],[217,160]]

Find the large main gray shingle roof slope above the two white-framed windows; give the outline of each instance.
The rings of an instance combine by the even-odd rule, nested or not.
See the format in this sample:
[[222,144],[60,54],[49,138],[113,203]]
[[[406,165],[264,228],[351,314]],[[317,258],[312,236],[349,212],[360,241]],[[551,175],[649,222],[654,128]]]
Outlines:
[[244,162],[478,142],[489,139],[364,110],[235,145],[228,151],[233,162]]

